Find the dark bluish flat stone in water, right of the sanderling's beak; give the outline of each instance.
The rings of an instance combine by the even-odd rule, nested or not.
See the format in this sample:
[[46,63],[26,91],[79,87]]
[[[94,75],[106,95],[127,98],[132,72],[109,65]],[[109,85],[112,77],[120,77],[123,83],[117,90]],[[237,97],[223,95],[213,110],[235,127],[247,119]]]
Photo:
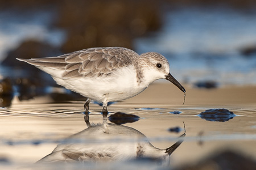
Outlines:
[[208,109],[197,116],[207,121],[226,122],[235,117],[236,114],[230,112],[228,109]]

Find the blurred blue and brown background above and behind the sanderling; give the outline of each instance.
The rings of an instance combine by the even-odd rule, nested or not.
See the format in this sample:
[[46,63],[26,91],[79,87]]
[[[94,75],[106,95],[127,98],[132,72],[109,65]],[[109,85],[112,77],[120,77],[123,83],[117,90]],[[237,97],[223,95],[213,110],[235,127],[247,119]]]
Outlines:
[[[58,88],[15,58],[99,46],[159,52],[176,79],[192,87],[254,86],[255,9],[254,0],[0,0],[0,96],[26,100]],[[10,105],[5,101],[2,106]]]

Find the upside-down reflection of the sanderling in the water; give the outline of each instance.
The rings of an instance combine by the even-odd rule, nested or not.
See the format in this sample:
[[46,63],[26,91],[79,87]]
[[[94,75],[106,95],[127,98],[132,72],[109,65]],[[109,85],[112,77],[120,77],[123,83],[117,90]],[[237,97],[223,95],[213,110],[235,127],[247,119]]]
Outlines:
[[[185,133],[181,135],[184,137]],[[86,142],[87,141],[87,142]],[[88,142],[90,141],[90,142]],[[133,128],[100,124],[72,135],[68,142],[61,143],[38,163],[120,161],[137,158],[149,158],[169,163],[170,155],[183,142],[176,142],[167,149],[151,145],[146,136]]]

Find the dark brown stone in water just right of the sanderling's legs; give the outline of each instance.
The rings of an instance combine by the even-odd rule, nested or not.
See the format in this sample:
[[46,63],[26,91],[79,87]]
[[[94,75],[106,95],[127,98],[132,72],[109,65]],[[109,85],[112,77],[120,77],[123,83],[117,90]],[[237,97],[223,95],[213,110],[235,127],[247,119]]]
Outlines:
[[133,123],[139,120],[139,116],[134,114],[126,114],[122,112],[117,112],[109,116],[110,122],[113,122],[117,125],[122,125],[126,123]]

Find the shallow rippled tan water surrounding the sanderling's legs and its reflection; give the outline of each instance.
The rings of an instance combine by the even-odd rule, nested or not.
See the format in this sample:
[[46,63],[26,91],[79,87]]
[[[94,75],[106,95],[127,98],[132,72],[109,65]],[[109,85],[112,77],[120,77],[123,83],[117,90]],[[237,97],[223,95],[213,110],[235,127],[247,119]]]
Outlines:
[[[34,164],[36,161],[50,154],[60,142],[63,142],[70,135],[87,129],[82,102],[45,103],[44,101],[43,97],[26,102],[14,101],[10,108],[0,109],[1,169],[27,166],[39,168],[38,165]],[[153,146],[161,149],[168,148],[179,141],[179,136],[184,133],[184,122],[185,141],[171,154],[171,167],[192,164],[205,156],[216,154],[222,150],[234,150],[241,155],[256,159],[256,107],[254,105],[246,105],[245,107],[229,105],[225,107],[236,114],[235,117],[225,122],[207,121],[197,116],[207,109],[218,108],[214,105],[211,107],[204,105],[151,106],[153,105],[129,102],[115,103],[108,107],[110,112],[108,116],[116,112],[139,116],[138,121],[123,125],[140,131],[146,135]],[[97,104],[90,104],[89,121],[91,124],[102,123],[101,109],[102,107]],[[174,111],[181,113],[170,113]],[[109,120],[108,122],[110,123]],[[179,133],[169,131],[170,128],[176,127],[181,129]],[[89,139],[79,142],[82,142],[85,147],[97,143]],[[100,143],[110,145],[120,141],[134,142],[133,140],[129,141],[129,138],[117,136],[111,141],[104,141],[103,139]],[[67,141],[64,140],[64,142]],[[47,168],[54,169],[55,166],[56,164],[52,164]],[[170,168],[169,165],[163,167],[158,163],[148,163],[145,160],[129,162],[120,160],[111,164],[87,162],[86,166],[92,169],[102,167],[119,169],[121,166],[127,169],[136,167],[141,167],[141,169]],[[42,168],[42,166],[40,167]],[[79,168],[77,168],[77,164],[73,164],[70,169]]]

